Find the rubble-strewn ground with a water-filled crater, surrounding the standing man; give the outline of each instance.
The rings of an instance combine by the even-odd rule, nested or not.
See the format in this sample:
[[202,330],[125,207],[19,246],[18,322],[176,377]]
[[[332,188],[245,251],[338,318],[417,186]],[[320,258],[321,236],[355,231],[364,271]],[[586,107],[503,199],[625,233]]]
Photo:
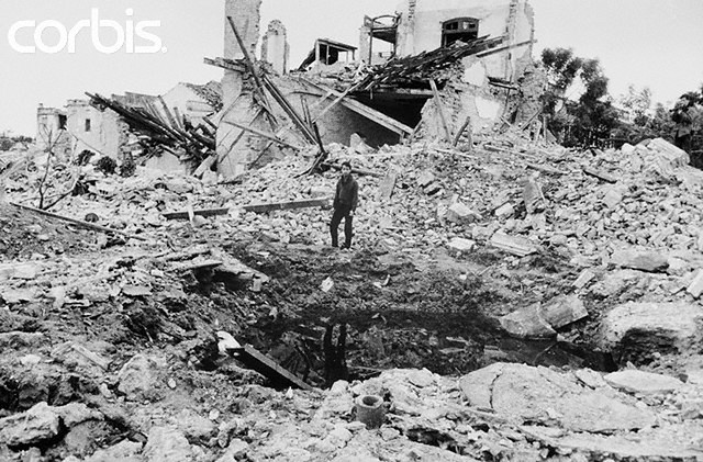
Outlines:
[[233,182],[0,154],[0,460],[703,459],[701,172],[470,147],[327,146],[350,250],[313,150]]

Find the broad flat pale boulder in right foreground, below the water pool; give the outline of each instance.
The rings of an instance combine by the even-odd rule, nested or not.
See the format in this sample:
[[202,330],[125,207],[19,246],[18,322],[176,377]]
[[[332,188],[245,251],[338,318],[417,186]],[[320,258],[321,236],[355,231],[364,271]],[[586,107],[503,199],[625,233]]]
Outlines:
[[460,380],[473,407],[491,409],[515,425],[533,422],[570,431],[612,432],[655,424],[655,415],[611,387],[581,386],[571,373],[495,363]]

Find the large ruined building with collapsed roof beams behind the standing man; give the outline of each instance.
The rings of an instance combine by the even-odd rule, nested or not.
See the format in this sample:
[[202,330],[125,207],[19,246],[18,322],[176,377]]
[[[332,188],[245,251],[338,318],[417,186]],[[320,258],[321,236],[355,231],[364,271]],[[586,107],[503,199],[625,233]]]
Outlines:
[[[458,142],[537,115],[537,98],[518,87],[534,74],[534,20],[524,0],[409,0],[398,13],[365,18],[358,47],[319,38],[292,74],[280,71],[288,45],[278,21],[265,34],[268,65],[256,61],[260,4],[226,1],[225,56],[205,59],[225,70],[224,110],[215,117],[224,177],[301,144],[348,145],[353,135],[371,147],[417,135]],[[379,41],[392,53],[375,53]],[[278,94],[269,100],[271,89]]]

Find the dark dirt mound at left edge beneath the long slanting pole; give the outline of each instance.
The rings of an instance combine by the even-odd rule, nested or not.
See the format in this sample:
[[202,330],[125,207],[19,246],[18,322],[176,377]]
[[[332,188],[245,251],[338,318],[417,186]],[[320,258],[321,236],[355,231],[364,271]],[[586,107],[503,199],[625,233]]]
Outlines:
[[69,224],[0,203],[2,260],[27,259],[35,253],[78,253],[96,241],[94,234]]

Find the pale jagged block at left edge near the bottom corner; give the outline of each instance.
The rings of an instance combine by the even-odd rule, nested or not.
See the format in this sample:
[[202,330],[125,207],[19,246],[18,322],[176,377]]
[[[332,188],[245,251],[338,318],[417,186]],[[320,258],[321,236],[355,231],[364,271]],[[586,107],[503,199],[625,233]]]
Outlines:
[[59,416],[46,403],[38,403],[30,410],[0,419],[0,444],[31,446],[58,435]]

